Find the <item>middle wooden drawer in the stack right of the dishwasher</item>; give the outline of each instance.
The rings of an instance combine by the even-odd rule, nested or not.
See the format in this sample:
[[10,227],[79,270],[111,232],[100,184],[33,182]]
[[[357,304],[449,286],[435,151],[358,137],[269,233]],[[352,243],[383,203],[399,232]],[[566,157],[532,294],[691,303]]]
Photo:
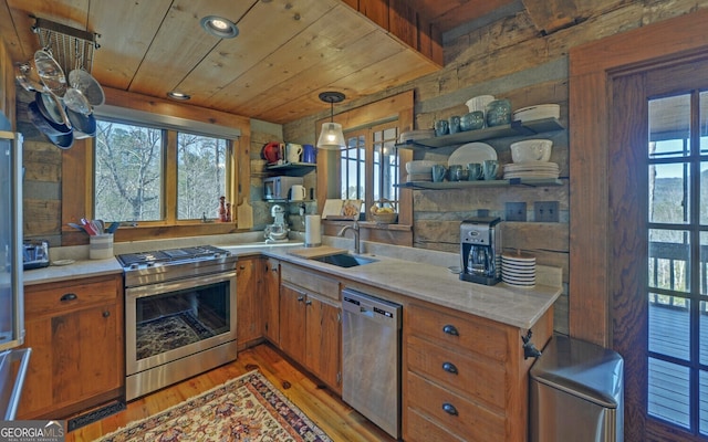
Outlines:
[[406,350],[408,370],[503,413],[507,372],[502,362],[451,351],[417,337],[407,339]]

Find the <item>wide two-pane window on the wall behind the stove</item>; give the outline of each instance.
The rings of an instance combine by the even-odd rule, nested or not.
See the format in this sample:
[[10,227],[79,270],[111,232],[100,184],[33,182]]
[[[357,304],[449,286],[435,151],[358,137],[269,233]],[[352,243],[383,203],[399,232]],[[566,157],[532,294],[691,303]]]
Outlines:
[[215,219],[219,197],[229,199],[230,155],[223,138],[100,119],[94,217],[168,224]]

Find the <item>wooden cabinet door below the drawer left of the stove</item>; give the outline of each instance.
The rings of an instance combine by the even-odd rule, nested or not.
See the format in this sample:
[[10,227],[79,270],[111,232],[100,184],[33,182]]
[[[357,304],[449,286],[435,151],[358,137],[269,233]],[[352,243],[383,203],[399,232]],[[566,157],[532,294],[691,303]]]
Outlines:
[[79,402],[122,386],[119,316],[116,305],[108,304],[25,323],[25,346],[32,356],[20,419],[63,418],[79,411],[72,408]]

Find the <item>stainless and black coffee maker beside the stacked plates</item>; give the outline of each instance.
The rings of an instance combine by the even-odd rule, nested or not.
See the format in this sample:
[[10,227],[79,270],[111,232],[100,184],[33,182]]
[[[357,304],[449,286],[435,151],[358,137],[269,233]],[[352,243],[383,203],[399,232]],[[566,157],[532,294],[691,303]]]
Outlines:
[[460,224],[460,280],[494,285],[501,281],[501,219],[478,217]]

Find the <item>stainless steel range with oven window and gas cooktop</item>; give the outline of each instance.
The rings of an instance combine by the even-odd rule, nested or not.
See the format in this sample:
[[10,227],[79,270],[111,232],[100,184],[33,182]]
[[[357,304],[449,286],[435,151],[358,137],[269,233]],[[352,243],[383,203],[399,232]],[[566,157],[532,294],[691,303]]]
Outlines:
[[237,256],[202,245],[117,259],[127,400],[236,359]]

